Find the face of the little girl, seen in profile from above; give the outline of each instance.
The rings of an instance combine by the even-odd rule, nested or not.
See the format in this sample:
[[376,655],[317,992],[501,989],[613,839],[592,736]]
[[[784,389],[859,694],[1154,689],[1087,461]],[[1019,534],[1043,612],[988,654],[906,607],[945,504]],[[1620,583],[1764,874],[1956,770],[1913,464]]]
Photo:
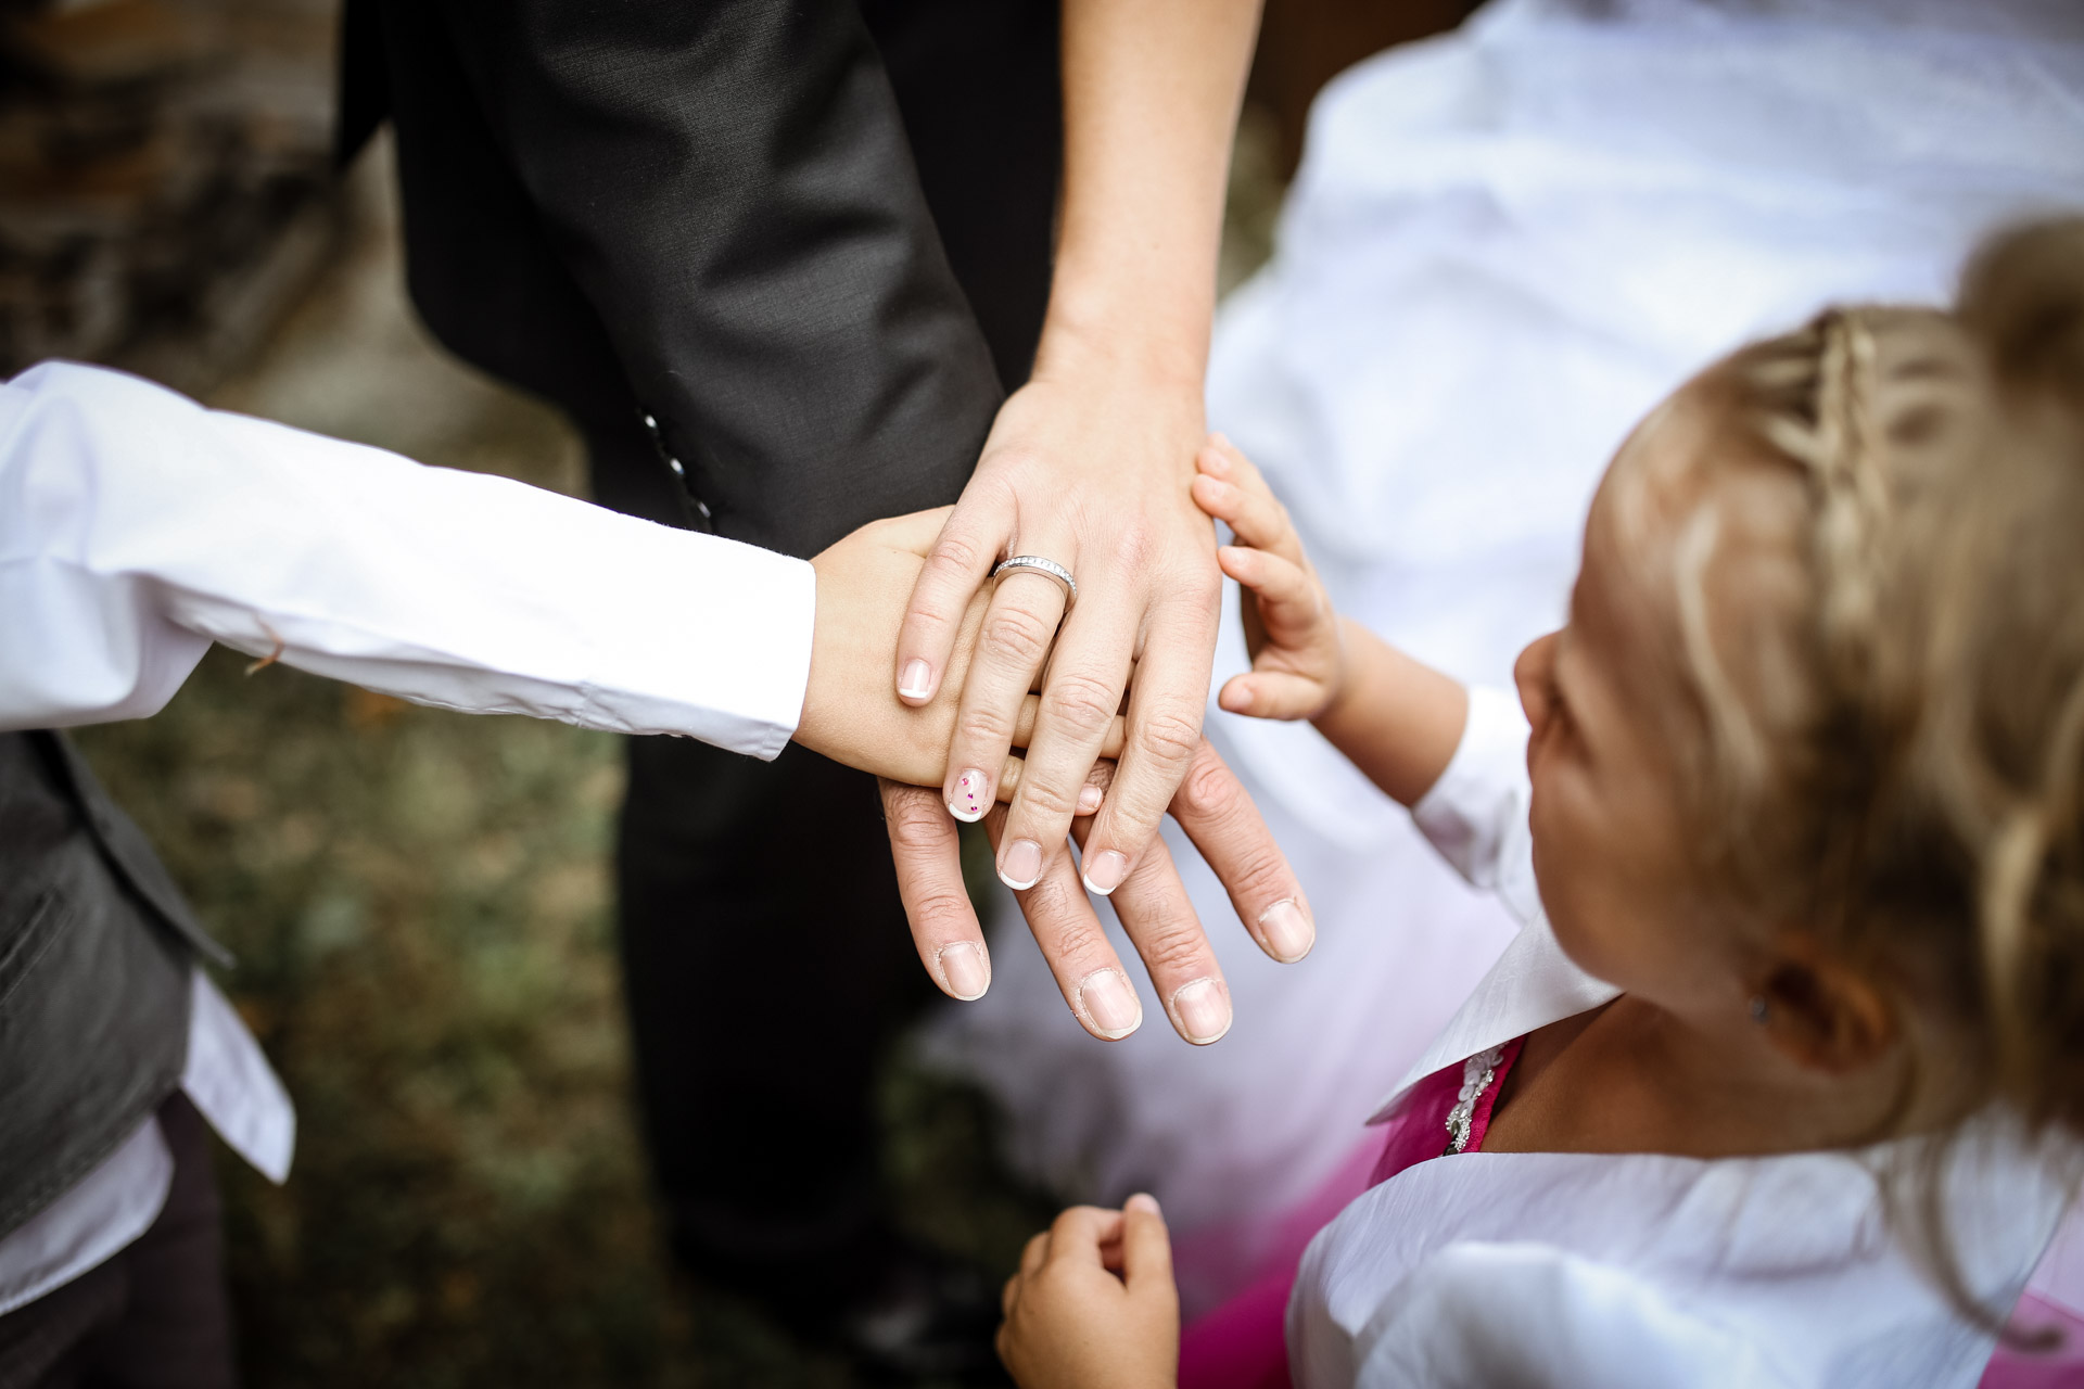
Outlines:
[[[1513,671],[1534,725],[1528,773],[1534,875],[1557,943],[1580,968],[1673,1012],[1742,1000],[1728,933],[1709,929],[1692,891],[1678,785],[1665,746],[1673,700],[1676,621],[1623,562],[1644,525],[1621,521],[1630,477],[1655,477],[1696,444],[1692,412],[1661,410],[1621,446],[1586,523],[1569,623],[1534,641]],[[1623,479],[1621,485],[1615,479]],[[1657,537],[1653,544],[1663,544]]]

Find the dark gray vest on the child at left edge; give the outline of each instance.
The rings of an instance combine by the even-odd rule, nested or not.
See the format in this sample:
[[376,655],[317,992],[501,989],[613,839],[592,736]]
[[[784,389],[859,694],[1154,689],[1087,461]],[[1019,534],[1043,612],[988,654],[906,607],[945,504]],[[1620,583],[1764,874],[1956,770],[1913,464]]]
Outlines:
[[190,968],[227,960],[56,733],[0,733],[0,1237],[181,1083]]

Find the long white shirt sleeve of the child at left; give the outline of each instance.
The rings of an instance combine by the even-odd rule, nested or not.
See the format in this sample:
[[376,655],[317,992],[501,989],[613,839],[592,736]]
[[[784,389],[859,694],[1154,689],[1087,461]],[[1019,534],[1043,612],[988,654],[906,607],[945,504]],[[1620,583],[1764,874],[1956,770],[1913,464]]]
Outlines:
[[210,641],[417,704],[773,758],[802,560],[96,367],[0,385],[0,729],[140,718]]

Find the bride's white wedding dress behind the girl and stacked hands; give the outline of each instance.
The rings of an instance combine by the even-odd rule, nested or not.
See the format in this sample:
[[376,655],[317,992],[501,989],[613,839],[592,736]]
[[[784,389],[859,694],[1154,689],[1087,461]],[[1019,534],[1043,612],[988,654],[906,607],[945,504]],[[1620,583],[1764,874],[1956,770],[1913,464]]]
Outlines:
[[[1507,685],[1659,398],[1830,300],[1946,302],[1986,231],[2078,208],[2078,0],[1498,0],[1317,100],[1209,419],[1342,610]],[[1213,685],[1246,664],[1227,602]],[[1190,1312],[1292,1239],[1511,935],[1307,725],[1211,702],[1209,735],[1302,877],[1315,954],[1265,960],[1175,835],[1236,1000],[1219,1045],[1182,1043],[1148,985],[1138,1035],[1086,1037],[1011,902],[990,995],[927,1037],[1004,1102],[1027,1172],[1159,1195]]]

